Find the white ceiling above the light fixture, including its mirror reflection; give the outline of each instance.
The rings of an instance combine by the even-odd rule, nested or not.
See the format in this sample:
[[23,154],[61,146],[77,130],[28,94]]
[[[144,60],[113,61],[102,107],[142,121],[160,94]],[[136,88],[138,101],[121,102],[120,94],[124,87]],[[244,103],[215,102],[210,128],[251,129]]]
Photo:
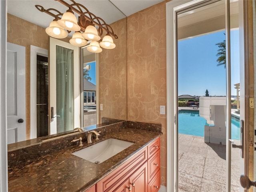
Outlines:
[[[69,0],[65,0],[69,4]],[[84,5],[94,15],[102,18],[107,24],[130,16],[140,10],[158,4],[163,0],[75,0]],[[47,28],[54,19],[52,16],[40,12],[35,5],[41,5],[44,9],[54,8],[62,13],[68,8],[55,0],[8,0],[7,12]],[[76,15],[76,14],[75,14]],[[76,15],[78,16],[78,15]]]

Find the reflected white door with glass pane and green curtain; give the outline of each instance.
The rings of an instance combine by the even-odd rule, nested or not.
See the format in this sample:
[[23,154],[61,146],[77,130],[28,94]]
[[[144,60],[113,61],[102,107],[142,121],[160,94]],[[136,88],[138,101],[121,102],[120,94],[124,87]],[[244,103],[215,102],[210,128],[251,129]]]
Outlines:
[[50,134],[80,127],[79,47],[50,38]]

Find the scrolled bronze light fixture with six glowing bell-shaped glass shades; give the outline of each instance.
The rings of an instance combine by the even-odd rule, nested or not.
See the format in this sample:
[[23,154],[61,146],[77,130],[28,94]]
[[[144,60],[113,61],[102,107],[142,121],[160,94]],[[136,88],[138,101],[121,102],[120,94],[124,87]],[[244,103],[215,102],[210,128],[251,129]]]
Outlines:
[[[93,53],[102,52],[102,48],[113,49],[116,47],[111,36],[116,39],[118,36],[114,34],[111,26],[106,24],[102,18],[95,16],[85,6],[76,3],[74,0],[70,0],[71,4],[68,4],[65,0],[57,1],[68,7],[64,14],[53,8],[46,10],[40,5],[35,5],[40,12],[45,12],[54,17],[50,26],[45,30],[49,36],[66,38],[68,33],[74,31],[72,38],[69,40],[70,44],[79,47],[88,45],[86,46],[87,50]],[[74,12],[79,15],[78,20]],[[103,32],[106,32],[106,35],[101,40],[100,36]]]

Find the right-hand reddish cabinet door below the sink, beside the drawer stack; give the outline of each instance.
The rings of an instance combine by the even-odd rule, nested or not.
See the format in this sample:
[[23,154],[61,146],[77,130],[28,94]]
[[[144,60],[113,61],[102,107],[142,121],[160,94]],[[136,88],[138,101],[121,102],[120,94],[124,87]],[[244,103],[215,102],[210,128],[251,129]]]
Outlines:
[[130,176],[130,186],[132,192],[148,191],[148,168],[146,163]]

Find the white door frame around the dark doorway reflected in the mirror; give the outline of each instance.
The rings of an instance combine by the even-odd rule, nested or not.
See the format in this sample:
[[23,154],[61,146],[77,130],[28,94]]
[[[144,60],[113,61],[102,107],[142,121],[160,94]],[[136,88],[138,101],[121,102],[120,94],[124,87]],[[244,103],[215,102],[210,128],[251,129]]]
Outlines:
[[36,56],[48,58],[48,50],[30,45],[30,139],[37,137],[36,129]]

